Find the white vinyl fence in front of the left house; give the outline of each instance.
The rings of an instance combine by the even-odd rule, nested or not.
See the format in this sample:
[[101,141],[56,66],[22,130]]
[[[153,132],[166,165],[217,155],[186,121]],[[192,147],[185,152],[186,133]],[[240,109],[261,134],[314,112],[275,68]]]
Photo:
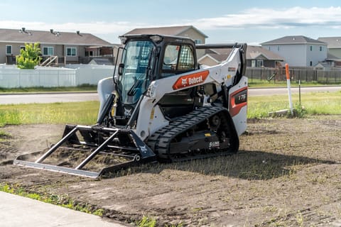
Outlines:
[[97,84],[100,79],[112,77],[114,72],[114,66],[107,65],[69,66],[20,70],[16,65],[0,65],[0,87],[75,87]]

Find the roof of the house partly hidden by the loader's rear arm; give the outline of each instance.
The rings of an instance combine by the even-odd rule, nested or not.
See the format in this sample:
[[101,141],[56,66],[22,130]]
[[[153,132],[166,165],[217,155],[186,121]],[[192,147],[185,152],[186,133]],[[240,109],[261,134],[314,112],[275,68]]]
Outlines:
[[[226,60],[229,56],[229,53],[232,49],[208,49],[206,50],[206,55],[210,55],[210,57],[214,58],[217,62],[222,62]],[[254,59],[267,59],[267,60],[276,60],[276,61],[283,61],[284,58],[280,55],[277,55],[266,48],[262,48],[261,46],[256,45],[248,45],[247,46],[247,60],[254,60]]]

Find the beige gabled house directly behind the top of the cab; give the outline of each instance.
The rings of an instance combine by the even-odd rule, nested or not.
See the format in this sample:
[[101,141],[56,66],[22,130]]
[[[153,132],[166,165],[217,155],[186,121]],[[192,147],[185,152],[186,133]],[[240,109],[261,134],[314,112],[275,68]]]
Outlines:
[[[135,28],[124,35],[132,34],[158,34],[158,35],[176,35],[188,37],[194,40],[195,44],[204,44],[207,35],[197,30],[193,26],[170,26],[170,27],[157,27],[157,28]],[[197,57],[204,55],[205,51],[198,50]]]

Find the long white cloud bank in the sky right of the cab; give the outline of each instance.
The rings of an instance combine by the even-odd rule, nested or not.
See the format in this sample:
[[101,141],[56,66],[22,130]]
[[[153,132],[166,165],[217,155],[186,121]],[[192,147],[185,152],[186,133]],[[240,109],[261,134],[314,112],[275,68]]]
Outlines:
[[217,18],[202,18],[192,24],[200,29],[217,28],[297,28],[324,26],[340,28],[341,7],[289,9],[247,9]]

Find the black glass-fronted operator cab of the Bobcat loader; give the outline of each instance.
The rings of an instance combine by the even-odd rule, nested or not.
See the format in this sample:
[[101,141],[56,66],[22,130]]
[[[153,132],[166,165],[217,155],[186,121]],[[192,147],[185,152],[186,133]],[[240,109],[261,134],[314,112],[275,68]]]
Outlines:
[[[168,35],[122,35],[120,38],[124,48],[119,51],[121,63],[115,79],[119,94],[116,121],[124,126],[152,81],[197,70],[199,66],[195,43],[190,38]],[[193,110],[194,94],[193,88],[166,94],[158,104],[166,117],[182,116]]]

